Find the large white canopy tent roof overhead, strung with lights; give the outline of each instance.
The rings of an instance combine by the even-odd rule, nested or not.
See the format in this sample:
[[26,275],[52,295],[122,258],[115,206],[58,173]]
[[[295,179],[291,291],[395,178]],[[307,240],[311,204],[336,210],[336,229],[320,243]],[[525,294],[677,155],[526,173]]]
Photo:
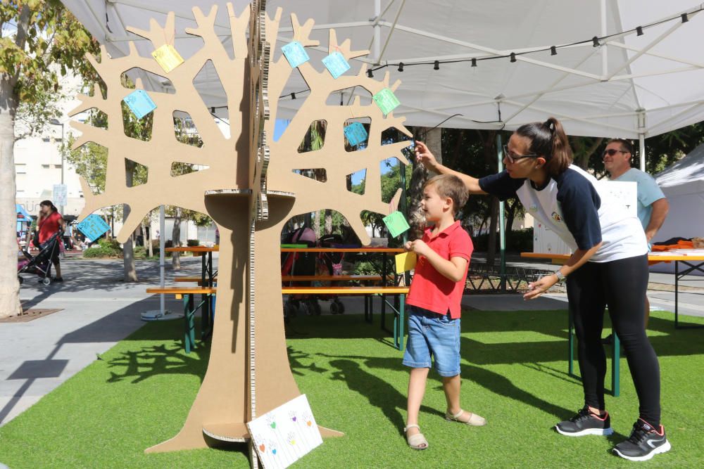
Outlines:
[[[177,17],[176,49],[184,58],[191,56],[201,44],[184,32],[194,26],[192,6],[209,11],[217,4],[216,24],[228,40],[225,0],[63,3],[114,56],[125,55],[129,41],[144,56],[151,53],[149,41],[125,28],[149,29],[149,18],[163,24],[169,11]],[[232,1],[235,11],[248,3]],[[395,114],[405,115],[409,125],[433,127],[451,117],[444,126],[515,129],[552,115],[569,134],[640,139],[642,146],[648,136],[704,120],[704,15],[696,1],[270,0],[270,15],[278,6],[284,19],[276,56],[291,40],[289,13],[315,20],[312,37],[321,44],[308,51],[316,67],[322,68],[327,29],[334,27],[340,40],[352,40],[353,49],[371,50],[353,60],[352,71],[362,62],[372,68],[388,65],[376,74],[388,71],[391,82],[402,80]],[[682,13],[688,14],[682,18]],[[639,26],[643,34],[635,30]],[[598,46],[593,37],[601,38]],[[435,60],[439,70],[434,70]],[[444,63],[448,60],[465,61]],[[404,64],[403,72],[398,63]],[[423,65],[413,65],[418,63]],[[206,70],[196,83],[206,105],[226,115],[224,90],[214,71]],[[153,89],[164,85],[146,81]],[[295,113],[301,101],[290,93],[305,98],[299,91],[306,88],[301,79],[289,82],[279,117]],[[352,92],[365,94],[348,90],[331,104],[347,101]]]

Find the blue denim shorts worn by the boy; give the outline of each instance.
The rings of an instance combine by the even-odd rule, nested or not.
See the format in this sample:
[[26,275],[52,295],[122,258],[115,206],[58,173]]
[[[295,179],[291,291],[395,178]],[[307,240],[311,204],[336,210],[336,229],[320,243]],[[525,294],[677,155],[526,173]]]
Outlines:
[[441,376],[460,374],[460,319],[427,309],[408,307],[408,342],[403,364],[431,368],[431,358]]

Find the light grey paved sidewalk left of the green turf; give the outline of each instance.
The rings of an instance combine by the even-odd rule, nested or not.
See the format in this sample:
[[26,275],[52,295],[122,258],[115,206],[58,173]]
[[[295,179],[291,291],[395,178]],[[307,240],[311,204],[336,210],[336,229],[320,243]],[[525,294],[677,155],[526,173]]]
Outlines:
[[[170,266],[170,259],[168,266]],[[68,258],[63,283],[39,285],[24,274],[24,309],[61,309],[26,323],[0,323],[0,425],[142,327],[143,311],[159,309],[159,297],[145,293],[158,285],[158,262],[137,261],[138,283],[122,282],[121,260]],[[200,274],[201,260],[182,257],[178,275]],[[175,271],[166,269],[166,281]],[[166,297],[170,311],[181,302]]]

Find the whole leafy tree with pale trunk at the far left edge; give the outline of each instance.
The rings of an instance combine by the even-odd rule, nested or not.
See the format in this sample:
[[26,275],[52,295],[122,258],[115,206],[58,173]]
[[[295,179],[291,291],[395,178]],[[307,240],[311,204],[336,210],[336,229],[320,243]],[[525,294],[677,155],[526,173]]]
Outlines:
[[[98,44],[58,0],[2,0],[0,3],[0,219],[14,219],[14,142],[55,114],[60,75],[94,71],[84,60]],[[19,121],[18,121],[19,119]],[[15,229],[0,226],[0,316],[20,311],[15,272]]]

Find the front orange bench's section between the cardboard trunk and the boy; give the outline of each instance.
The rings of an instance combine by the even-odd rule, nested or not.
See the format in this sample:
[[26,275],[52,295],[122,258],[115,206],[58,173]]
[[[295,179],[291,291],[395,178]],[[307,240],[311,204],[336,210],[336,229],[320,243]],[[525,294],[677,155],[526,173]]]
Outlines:
[[[403,327],[406,321],[406,295],[408,287],[386,286],[386,287],[282,287],[281,293],[284,295],[346,295],[364,297],[364,319],[372,322],[372,296],[382,297],[382,329],[394,334],[394,347],[403,350]],[[386,300],[386,295],[394,295],[398,300],[398,306]],[[394,311],[394,330],[386,329],[385,315],[386,304],[391,311]]]

